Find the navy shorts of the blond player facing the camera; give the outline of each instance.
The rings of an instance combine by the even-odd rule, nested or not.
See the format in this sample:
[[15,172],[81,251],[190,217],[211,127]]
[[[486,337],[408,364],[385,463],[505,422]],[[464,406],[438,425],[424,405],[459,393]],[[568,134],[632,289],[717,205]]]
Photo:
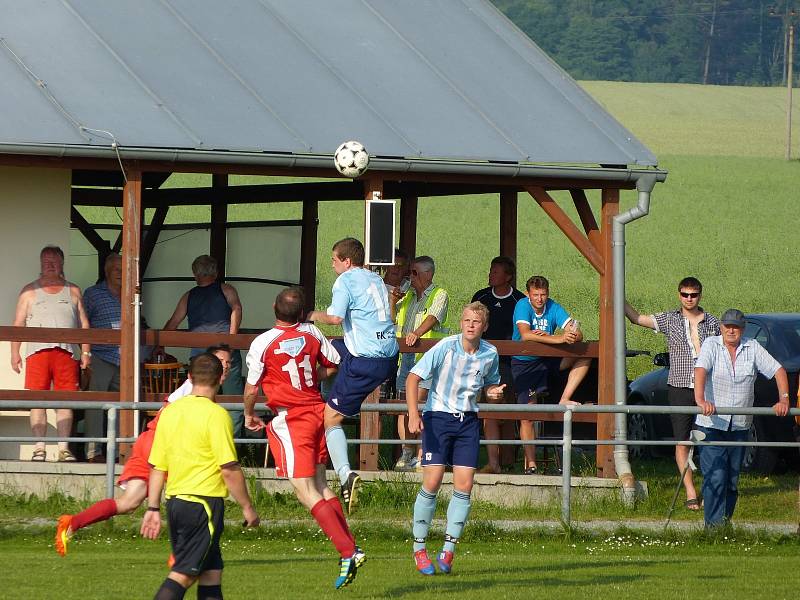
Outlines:
[[481,431],[478,413],[426,411],[422,415],[422,466],[478,468]]

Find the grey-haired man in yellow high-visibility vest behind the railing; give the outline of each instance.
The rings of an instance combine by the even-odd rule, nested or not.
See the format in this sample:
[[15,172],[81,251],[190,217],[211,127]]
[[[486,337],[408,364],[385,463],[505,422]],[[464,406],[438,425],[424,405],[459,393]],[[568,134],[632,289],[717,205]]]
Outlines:
[[[444,288],[433,283],[436,264],[430,256],[418,256],[411,263],[411,289],[400,296],[397,290],[392,291],[392,299],[397,303],[397,335],[405,338],[406,344],[413,346],[420,338],[442,338],[447,335],[444,322],[447,320],[449,297]],[[400,367],[397,371],[397,391],[405,397],[406,378],[416,361],[422,354],[412,352],[400,355]],[[420,395],[424,402],[430,381],[423,381],[420,387],[425,391]],[[414,439],[406,427],[407,417],[397,417],[397,434],[401,440]],[[412,446],[403,446],[403,453],[394,468],[398,471],[414,470],[421,467],[422,448],[415,450]]]

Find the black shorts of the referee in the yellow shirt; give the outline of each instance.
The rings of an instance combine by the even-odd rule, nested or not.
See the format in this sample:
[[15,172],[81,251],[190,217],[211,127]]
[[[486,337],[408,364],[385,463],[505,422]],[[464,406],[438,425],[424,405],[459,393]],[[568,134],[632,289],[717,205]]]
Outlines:
[[[187,500],[186,498],[192,498]],[[167,500],[167,522],[175,565],[172,570],[190,577],[222,570],[223,498],[181,496]]]

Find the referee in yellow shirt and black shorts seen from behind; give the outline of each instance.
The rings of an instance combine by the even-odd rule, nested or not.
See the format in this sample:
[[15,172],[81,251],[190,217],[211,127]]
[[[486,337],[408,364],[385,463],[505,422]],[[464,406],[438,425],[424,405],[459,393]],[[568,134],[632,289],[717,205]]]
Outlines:
[[154,540],[161,531],[161,490],[169,473],[167,522],[175,564],[155,600],[180,600],[195,581],[198,600],[222,599],[219,540],[229,492],[241,505],[247,525],[259,523],[233,446],[230,415],[214,403],[221,376],[216,356],[194,357],[189,365],[191,395],[167,406],[156,427],[141,533]]

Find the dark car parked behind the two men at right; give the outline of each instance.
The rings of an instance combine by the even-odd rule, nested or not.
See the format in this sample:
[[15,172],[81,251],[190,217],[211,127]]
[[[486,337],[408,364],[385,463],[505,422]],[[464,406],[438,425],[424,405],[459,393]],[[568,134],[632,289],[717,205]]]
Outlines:
[[[769,313],[747,315],[745,337],[755,338],[783,365],[789,375],[789,398],[796,406],[797,375],[800,371],[800,313]],[[635,379],[630,385],[628,404],[666,405],[669,354],[656,354],[656,366],[662,367]],[[778,399],[775,380],[758,375],[755,384],[755,406],[770,407]],[[628,438],[631,440],[671,440],[672,426],[668,415],[630,415]],[[756,416],[750,427],[751,441],[795,442],[800,439],[800,428],[791,416]],[[631,457],[645,457],[654,452],[664,452],[666,447],[631,446]],[[669,448],[672,453],[672,448]],[[776,469],[798,468],[800,453],[797,448],[748,448],[743,468],[769,474]]]

